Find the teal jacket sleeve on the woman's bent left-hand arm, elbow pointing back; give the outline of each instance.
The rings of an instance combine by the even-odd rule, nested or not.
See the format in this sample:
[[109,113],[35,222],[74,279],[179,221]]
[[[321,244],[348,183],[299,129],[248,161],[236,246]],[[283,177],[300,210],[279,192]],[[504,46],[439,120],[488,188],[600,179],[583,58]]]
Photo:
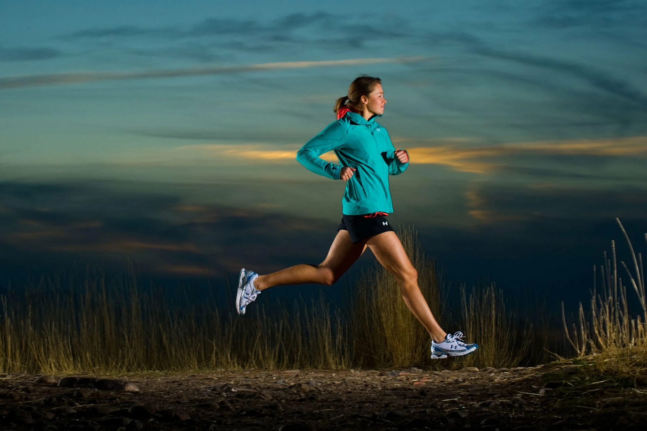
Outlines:
[[319,156],[344,146],[346,131],[344,124],[333,121],[296,152],[296,161],[315,174],[331,180],[339,180],[342,167],[336,163],[326,162]]

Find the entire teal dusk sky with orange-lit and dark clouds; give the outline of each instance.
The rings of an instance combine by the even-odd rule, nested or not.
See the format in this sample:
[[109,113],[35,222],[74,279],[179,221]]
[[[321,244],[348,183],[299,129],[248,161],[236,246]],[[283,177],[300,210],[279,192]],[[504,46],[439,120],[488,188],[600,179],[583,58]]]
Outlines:
[[[646,16],[610,0],[0,0],[0,288],[94,260],[216,284],[322,262],[345,183],[296,151],[367,74],[410,154],[391,225],[451,286],[586,303],[612,240],[632,268],[616,217],[647,248]],[[367,251],[342,279],[375,264]]]

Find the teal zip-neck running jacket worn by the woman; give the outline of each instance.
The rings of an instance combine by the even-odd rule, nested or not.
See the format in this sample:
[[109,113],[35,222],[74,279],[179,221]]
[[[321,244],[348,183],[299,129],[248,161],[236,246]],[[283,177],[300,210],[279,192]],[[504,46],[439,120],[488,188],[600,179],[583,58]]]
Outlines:
[[[342,213],[345,215],[375,211],[393,213],[389,175],[403,173],[409,162],[400,163],[395,157],[396,150],[389,133],[375,121],[376,117],[381,116],[374,115],[366,120],[356,112],[347,112],[296,152],[299,163],[331,180],[340,180],[342,167],[356,169],[346,182],[342,198]],[[319,157],[331,150],[334,150],[342,165],[326,162]]]

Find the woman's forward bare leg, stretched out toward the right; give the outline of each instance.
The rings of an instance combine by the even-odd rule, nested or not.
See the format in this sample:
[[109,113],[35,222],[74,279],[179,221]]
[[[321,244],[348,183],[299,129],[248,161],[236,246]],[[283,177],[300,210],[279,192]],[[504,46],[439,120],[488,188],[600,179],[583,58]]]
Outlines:
[[371,247],[378,262],[393,274],[400,287],[404,303],[422,323],[433,341],[443,341],[446,332],[436,322],[432,310],[429,309],[427,301],[422,296],[418,286],[418,271],[411,265],[400,238],[393,231],[382,232],[369,238],[366,244]]

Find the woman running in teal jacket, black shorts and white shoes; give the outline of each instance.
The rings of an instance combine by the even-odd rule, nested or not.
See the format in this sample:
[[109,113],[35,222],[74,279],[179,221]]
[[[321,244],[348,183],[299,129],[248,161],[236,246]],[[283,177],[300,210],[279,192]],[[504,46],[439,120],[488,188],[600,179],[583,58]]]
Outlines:
[[[331,286],[370,247],[380,264],[393,274],[404,302],[432,337],[432,359],[468,355],[478,344],[465,344],[463,333],[446,333],[436,322],[418,287],[418,273],[386,219],[393,213],[389,175],[407,169],[409,153],[396,150],[386,129],[375,121],[384,113],[385,104],[380,78],[359,76],[351,83],[348,95],[336,101],[333,110],[337,120],[297,151],[296,160],[310,171],[346,182],[337,236],[319,265],[298,264],[267,275],[241,269],[236,311],[244,315],[247,305],[272,286]],[[342,166],[319,157],[332,150]]]

